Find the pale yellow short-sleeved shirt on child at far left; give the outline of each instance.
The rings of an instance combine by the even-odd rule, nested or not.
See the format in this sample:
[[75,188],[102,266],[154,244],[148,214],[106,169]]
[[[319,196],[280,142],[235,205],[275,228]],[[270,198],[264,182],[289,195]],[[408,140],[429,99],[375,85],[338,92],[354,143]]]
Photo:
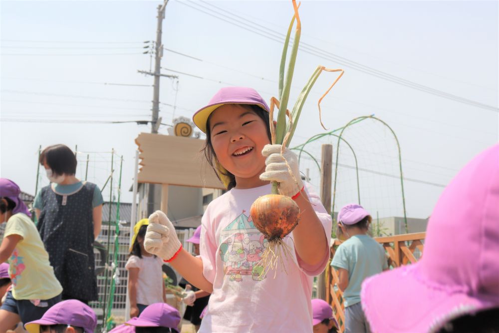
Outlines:
[[25,214],[14,214],[7,221],[3,237],[9,235],[22,237],[8,259],[14,299],[48,300],[62,293],[34,223]]

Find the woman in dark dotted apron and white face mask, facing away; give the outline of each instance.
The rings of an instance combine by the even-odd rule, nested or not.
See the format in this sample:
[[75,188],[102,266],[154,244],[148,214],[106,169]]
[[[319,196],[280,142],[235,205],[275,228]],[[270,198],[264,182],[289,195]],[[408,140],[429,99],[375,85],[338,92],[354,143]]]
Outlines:
[[38,231],[64,288],[62,299],[88,304],[97,300],[93,242],[102,224],[102,195],[97,185],[75,177],[76,157],[67,146],[45,148],[39,162],[51,184],[34,200]]

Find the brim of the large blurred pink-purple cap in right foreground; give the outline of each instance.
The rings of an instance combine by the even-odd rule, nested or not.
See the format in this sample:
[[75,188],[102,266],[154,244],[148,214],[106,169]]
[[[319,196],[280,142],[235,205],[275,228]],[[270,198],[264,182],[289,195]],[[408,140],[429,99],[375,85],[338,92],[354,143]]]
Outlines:
[[427,333],[457,315],[490,307],[462,291],[425,281],[420,264],[364,281],[360,299],[372,332]]

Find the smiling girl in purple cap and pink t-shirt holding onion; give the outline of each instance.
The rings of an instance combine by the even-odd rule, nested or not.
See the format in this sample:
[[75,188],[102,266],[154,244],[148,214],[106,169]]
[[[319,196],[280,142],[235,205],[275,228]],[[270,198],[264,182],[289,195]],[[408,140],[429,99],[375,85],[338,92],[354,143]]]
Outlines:
[[[319,197],[303,187],[296,155],[284,151],[291,175],[281,146],[269,144],[268,107],[254,89],[222,88],[193,120],[206,133],[208,163],[229,191],[212,201],[203,215],[199,257],[182,249],[161,211],[149,218],[145,248],[212,293],[199,332],[310,332],[312,277],[329,259],[329,214]],[[253,274],[258,266],[247,261],[251,242],[265,246],[247,212],[257,197],[270,194],[270,181],[279,182],[280,194],[294,198],[301,218],[284,240],[294,249],[292,256],[281,257],[286,272],[262,278]]]

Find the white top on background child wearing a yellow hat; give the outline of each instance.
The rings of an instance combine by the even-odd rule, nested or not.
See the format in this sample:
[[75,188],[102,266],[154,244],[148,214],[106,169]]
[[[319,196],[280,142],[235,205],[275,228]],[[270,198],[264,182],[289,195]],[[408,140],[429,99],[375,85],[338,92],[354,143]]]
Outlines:
[[160,257],[130,256],[125,265],[127,270],[139,269],[137,280],[137,304],[163,303],[163,260]]

